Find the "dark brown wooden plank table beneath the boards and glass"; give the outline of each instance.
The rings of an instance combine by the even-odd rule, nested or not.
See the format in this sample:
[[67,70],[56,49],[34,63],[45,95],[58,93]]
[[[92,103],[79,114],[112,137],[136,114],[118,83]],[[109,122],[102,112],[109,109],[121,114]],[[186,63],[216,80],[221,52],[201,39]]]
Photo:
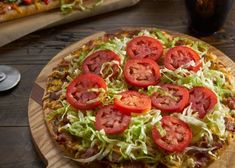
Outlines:
[[[14,66],[22,74],[15,89],[0,93],[1,168],[45,167],[32,144],[27,116],[33,82],[43,66],[75,41],[126,26],[154,26],[188,34],[183,0],[142,0],[135,7],[41,30],[0,48],[0,64]],[[235,61],[235,5],[224,28],[202,39]]]

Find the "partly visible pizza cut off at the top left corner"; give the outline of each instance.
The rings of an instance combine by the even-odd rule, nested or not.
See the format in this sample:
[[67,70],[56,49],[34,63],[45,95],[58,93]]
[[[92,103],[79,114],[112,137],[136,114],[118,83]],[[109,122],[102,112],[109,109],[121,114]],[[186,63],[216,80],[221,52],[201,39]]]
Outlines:
[[0,23],[60,8],[62,14],[86,10],[102,0],[0,0]]

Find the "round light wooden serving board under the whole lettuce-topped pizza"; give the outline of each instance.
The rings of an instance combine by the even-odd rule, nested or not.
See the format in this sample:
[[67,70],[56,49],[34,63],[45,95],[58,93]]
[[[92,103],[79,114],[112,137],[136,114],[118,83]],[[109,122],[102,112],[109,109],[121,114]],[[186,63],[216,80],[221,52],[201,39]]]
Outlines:
[[[125,28],[123,30],[135,30],[135,28]],[[193,40],[198,40],[188,35],[179,34],[170,31],[167,32],[173,35],[178,35]],[[52,72],[52,68],[56,67],[64,56],[71,53],[72,51],[82,46],[83,44],[87,43],[88,41],[97,39],[98,37],[101,37],[104,34],[105,32],[98,32],[79,42],[74,43],[73,45],[59,52],[43,68],[43,70],[41,71],[41,73],[39,74],[39,76],[35,81],[28,104],[29,126],[35,147],[48,168],[57,168],[57,167],[73,168],[73,167],[78,167],[78,164],[64,157],[63,153],[57,148],[56,144],[50,137],[46,123],[44,122],[44,115],[42,111],[42,97],[44,94],[44,89],[46,88],[47,77]],[[235,64],[228,56],[226,56],[224,53],[222,53],[221,51],[212,46],[210,46],[210,50],[214,52],[227,67],[230,67],[232,69],[233,74],[235,74]],[[235,157],[235,143],[231,144],[230,147],[226,149],[221,158],[218,161],[214,162],[212,165],[210,165],[210,168],[234,168],[235,167],[234,157]]]

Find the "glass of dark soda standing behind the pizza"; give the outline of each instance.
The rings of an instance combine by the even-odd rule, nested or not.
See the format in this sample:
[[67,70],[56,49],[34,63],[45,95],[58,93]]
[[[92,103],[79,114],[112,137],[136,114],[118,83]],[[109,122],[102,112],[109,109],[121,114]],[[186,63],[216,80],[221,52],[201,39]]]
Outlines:
[[185,0],[189,28],[197,35],[210,35],[224,24],[233,0]]

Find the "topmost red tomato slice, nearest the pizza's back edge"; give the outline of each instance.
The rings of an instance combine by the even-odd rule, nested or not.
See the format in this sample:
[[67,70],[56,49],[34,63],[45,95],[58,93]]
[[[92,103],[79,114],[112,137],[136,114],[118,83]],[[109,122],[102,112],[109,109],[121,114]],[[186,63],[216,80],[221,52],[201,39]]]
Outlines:
[[163,47],[152,37],[139,36],[127,44],[126,51],[130,58],[150,58],[157,61],[163,53]]

